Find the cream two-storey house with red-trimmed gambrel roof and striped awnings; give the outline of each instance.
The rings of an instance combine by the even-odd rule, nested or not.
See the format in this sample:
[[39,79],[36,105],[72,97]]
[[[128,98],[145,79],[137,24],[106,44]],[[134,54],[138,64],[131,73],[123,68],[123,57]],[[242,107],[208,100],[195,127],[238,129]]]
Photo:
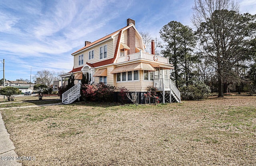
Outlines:
[[[74,67],[61,79],[74,74],[76,86],[63,94],[63,103],[71,103],[80,90],[79,81],[83,73],[89,73],[94,83],[104,82],[116,87],[126,87],[130,92],[143,94],[149,85],[162,93],[163,103],[168,99],[180,102],[180,92],[170,80],[170,69],[174,69],[169,59],[154,55],[154,41],[151,53],[146,53],[142,37],[135,28],[135,21],[127,19],[127,25],[112,34],[94,42],[85,41],[84,47],[71,55]],[[170,93],[171,92],[171,93]],[[166,95],[168,94],[168,95]]]

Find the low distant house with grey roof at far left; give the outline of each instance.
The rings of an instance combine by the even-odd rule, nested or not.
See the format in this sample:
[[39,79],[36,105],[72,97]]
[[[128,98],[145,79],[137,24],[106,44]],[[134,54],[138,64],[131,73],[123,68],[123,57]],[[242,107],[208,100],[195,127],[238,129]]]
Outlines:
[[5,81],[5,86],[10,86],[10,87],[16,87],[18,88],[22,93],[24,92],[32,92],[34,89],[33,83],[27,83],[26,81]]

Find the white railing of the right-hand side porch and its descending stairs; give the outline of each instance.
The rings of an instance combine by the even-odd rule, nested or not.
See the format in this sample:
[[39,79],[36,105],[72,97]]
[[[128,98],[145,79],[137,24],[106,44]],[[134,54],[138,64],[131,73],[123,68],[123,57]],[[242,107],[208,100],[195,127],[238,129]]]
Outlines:
[[160,91],[163,91],[163,95],[164,91],[170,89],[170,93],[174,96],[176,101],[180,103],[180,91],[178,90],[178,88],[175,86],[171,79],[154,79],[154,87],[160,89]]

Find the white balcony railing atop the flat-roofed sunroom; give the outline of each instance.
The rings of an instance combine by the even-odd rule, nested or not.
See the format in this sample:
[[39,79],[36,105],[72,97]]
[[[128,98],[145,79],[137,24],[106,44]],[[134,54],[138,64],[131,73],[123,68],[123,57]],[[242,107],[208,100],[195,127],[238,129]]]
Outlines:
[[122,63],[122,62],[126,62],[126,61],[132,61],[135,59],[146,59],[146,60],[151,60],[151,61],[158,61],[158,62],[162,62],[162,63],[169,63],[169,59],[166,57],[161,57],[161,56],[157,56],[157,55],[152,55],[150,53],[145,53],[145,52],[137,52],[137,53],[133,53],[130,55],[126,55],[123,57],[119,57],[117,59],[116,63]]

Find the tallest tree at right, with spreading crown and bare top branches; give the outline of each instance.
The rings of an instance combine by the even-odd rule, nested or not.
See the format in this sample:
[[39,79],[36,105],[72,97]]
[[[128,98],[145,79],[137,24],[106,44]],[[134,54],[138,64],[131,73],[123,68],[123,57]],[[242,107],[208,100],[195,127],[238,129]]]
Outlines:
[[255,35],[255,17],[239,14],[234,0],[195,0],[192,23],[197,28],[199,51],[218,76],[218,97],[223,83],[234,75],[234,65],[243,59],[246,43]]

